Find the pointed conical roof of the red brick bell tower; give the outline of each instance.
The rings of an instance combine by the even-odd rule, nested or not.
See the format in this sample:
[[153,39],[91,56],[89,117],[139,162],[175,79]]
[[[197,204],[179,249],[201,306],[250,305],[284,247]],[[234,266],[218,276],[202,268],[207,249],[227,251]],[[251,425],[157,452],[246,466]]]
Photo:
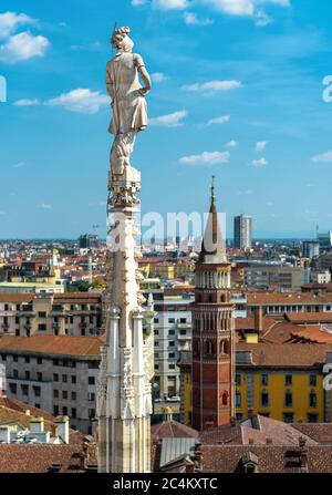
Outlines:
[[220,225],[218,221],[218,212],[216,208],[215,176],[212,176],[210,189],[210,209],[207,218],[204,238],[201,241],[199,262],[227,262],[225,240],[221,235]]

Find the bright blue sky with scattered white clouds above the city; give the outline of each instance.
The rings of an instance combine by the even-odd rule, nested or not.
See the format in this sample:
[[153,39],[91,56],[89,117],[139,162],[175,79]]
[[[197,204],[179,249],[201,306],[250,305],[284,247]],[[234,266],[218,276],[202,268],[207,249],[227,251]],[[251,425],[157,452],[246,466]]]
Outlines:
[[205,212],[214,174],[228,235],[332,226],[331,0],[1,0],[0,238],[104,235],[115,22],[154,80],[143,213]]

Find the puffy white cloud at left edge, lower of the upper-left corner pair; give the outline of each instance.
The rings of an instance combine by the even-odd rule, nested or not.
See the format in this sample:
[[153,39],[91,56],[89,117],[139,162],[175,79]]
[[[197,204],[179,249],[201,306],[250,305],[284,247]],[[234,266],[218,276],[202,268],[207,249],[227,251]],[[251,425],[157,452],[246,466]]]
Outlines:
[[0,45],[0,60],[15,63],[34,56],[43,56],[50,41],[41,35],[34,37],[28,31],[10,37]]

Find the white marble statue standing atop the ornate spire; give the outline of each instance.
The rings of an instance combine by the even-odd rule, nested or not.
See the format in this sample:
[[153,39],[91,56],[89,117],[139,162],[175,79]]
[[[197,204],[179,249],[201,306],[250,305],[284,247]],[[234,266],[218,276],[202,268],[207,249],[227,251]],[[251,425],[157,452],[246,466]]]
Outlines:
[[131,166],[136,135],[147,126],[145,95],[151,90],[151,78],[142,56],[132,52],[134,42],[128,37],[129,32],[127,27],[113,32],[111,43],[116,53],[106,68],[106,87],[113,110],[108,131],[115,136],[110,157],[114,179]]

